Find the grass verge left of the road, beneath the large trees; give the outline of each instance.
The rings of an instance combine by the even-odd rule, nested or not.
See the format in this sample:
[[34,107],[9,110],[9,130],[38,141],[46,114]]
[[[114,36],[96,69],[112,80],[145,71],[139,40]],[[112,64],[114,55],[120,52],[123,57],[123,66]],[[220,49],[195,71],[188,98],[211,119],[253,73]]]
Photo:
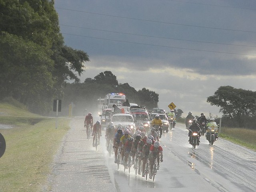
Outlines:
[[15,128],[0,130],[6,150],[0,158],[0,191],[40,191],[50,173],[60,142],[69,129],[69,119],[1,116],[1,123]]

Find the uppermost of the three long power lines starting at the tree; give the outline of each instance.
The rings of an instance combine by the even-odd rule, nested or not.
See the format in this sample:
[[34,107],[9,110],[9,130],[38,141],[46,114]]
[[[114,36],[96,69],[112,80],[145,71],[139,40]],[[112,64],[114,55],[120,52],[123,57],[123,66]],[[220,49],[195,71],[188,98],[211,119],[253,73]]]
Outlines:
[[155,23],[172,24],[172,25],[189,26],[189,27],[198,27],[198,28],[207,28],[207,29],[216,29],[216,30],[227,30],[227,31],[236,31],[236,32],[256,33],[256,31],[226,29],[226,28],[217,28],[217,27],[206,27],[206,26],[179,24],[179,23],[172,23],[172,22],[162,22],[162,21],[138,19],[138,18],[132,18],[132,17],[116,16],[116,15],[102,14],[102,13],[94,13],[94,12],[80,11],[80,10],[66,9],[66,8],[59,8],[59,7],[56,7],[56,9],[68,10],[68,11],[74,11],[74,12],[82,12],[82,13],[87,13],[87,14],[96,14],[96,15],[109,16],[109,17],[116,17],[116,18],[131,19],[131,20],[140,20],[140,21],[146,21],[146,22],[155,22]]

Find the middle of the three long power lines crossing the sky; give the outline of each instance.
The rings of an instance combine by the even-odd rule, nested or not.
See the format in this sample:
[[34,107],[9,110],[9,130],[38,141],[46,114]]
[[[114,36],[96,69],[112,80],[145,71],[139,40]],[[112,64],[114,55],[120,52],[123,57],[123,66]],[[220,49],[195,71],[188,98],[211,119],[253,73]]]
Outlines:
[[128,35],[135,35],[135,36],[160,38],[160,39],[170,39],[170,40],[198,42],[198,43],[209,43],[209,44],[220,44],[220,45],[231,45],[231,46],[256,47],[256,46],[250,46],[250,45],[238,45],[238,44],[217,43],[217,42],[208,42],[208,41],[196,41],[196,40],[186,40],[186,39],[168,38],[168,37],[160,37],[160,36],[150,36],[150,35],[134,34],[134,33],[126,33],[126,32],[116,32],[116,31],[110,31],[110,30],[102,30],[102,29],[95,29],[95,28],[88,28],[88,27],[79,27],[79,26],[72,26],[72,25],[65,25],[65,24],[60,24],[60,26],[76,27],[76,28],[81,28],[81,29],[97,30],[97,31],[112,32],[112,33],[118,33],[118,34],[128,34]]

